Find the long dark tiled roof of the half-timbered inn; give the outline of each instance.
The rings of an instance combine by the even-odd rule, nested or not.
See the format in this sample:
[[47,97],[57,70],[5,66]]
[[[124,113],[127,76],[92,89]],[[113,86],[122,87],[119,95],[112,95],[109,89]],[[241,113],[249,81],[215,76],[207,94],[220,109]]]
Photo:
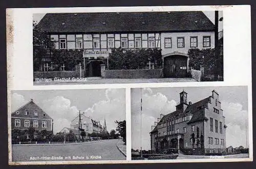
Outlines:
[[202,11],[47,13],[37,24],[49,33],[214,31]]

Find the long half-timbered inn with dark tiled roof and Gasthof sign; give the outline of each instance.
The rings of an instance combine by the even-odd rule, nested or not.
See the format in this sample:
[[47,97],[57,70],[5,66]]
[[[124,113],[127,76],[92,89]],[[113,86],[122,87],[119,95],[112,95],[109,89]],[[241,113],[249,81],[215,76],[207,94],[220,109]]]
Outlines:
[[[185,77],[188,49],[215,48],[218,27],[202,11],[47,13],[37,24],[54,41],[55,49],[79,49],[88,58],[87,76],[100,76],[100,65],[108,60],[112,48],[159,48],[165,77]],[[49,52],[40,70],[53,65]],[[82,61],[81,61],[82,63]],[[148,62],[145,69],[154,69]],[[108,68],[108,67],[107,67]]]

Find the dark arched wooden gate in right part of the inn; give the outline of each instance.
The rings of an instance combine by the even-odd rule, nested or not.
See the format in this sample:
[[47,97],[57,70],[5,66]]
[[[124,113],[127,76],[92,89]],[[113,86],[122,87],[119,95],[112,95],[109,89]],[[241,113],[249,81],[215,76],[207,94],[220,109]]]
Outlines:
[[187,77],[186,55],[174,54],[163,58],[164,77]]

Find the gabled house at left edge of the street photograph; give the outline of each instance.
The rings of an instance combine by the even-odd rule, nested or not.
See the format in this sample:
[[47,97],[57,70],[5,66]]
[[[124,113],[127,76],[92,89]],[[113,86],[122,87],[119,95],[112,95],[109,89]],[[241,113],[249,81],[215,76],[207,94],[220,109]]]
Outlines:
[[[12,112],[11,127],[12,131],[26,131],[29,127],[33,127],[35,129],[34,138],[36,138],[38,131],[53,131],[53,119],[31,99],[28,103]],[[25,133],[25,135],[28,139],[29,134]]]

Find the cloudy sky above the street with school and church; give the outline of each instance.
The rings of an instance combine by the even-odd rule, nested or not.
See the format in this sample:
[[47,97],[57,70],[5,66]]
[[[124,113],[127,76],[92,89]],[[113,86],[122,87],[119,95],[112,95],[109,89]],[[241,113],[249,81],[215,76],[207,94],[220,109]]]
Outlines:
[[109,132],[125,120],[124,89],[12,91],[12,112],[30,99],[53,118],[54,133],[70,127],[79,110],[102,125],[105,118]]

